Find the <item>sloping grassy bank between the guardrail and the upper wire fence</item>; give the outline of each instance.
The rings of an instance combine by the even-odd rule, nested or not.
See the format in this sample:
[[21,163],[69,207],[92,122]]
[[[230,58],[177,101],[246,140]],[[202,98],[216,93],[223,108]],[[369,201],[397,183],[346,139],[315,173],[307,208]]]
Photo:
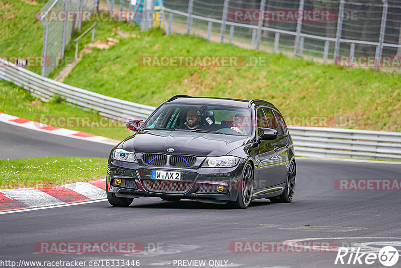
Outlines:
[[[335,117],[345,122],[322,126],[401,131],[400,75],[314,63],[186,35],[165,36],[157,29],[126,31],[136,37],[116,35],[118,44],[107,50],[94,48],[64,82],[152,106],[175,94],[259,98],[275,104],[287,118]],[[142,67],[137,60],[143,55],[265,56],[268,64]]]

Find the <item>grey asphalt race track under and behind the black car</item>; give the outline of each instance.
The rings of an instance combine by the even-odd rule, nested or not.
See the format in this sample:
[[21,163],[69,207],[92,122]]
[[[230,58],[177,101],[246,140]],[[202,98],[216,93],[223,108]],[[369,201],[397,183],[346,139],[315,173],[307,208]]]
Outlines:
[[[50,135],[12,125],[4,127],[3,123],[0,129],[2,158],[19,157],[23,149],[29,152],[24,157],[58,153],[107,157],[111,148],[71,138],[46,137]],[[401,191],[340,191],[334,187],[337,179],[401,179],[401,165],[299,158],[292,203],[258,200],[245,210],[189,200],[138,198],[128,208],[112,207],[107,201],[100,201],[0,213],[0,259],[87,263],[139,260],[140,267],[200,267],[183,266],[188,264],[183,260],[195,259],[206,260],[204,267],[211,267],[210,261],[215,260],[223,260],[223,264],[227,261],[226,266],[215,267],[366,267],[366,264],[335,265],[335,250],[232,252],[235,249],[229,245],[235,241],[245,244],[245,241],[306,239],[338,246],[362,245],[366,251],[373,248],[371,252],[376,253],[386,244],[400,249]],[[144,249],[139,253],[42,253],[38,249],[41,242],[102,241],[140,242]],[[178,265],[178,260],[182,265]],[[399,267],[399,263],[401,260],[393,267]],[[112,267],[111,264],[103,266]],[[384,266],[376,260],[369,267]]]

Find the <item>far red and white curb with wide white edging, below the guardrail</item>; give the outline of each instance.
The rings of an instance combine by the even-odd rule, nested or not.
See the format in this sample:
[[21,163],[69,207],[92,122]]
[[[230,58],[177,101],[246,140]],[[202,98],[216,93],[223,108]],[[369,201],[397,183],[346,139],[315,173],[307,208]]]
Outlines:
[[102,136],[93,135],[90,133],[85,133],[77,130],[71,130],[67,128],[61,128],[56,126],[51,126],[36,121],[31,121],[28,119],[20,118],[14,115],[0,112],[0,122],[9,123],[13,125],[22,126],[25,128],[47,132],[59,136],[70,137],[74,139],[80,139],[85,141],[91,141],[102,144],[116,145],[119,141],[109,139]]

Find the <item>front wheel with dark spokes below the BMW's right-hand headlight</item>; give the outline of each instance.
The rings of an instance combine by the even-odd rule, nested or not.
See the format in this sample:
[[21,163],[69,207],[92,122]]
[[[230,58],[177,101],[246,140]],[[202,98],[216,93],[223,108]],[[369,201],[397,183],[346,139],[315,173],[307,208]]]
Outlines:
[[249,203],[251,202],[252,193],[254,186],[254,172],[251,164],[247,164],[244,167],[244,173],[242,175],[242,179],[238,189],[237,200],[233,202],[229,202],[231,207],[236,209],[244,209],[247,208]]

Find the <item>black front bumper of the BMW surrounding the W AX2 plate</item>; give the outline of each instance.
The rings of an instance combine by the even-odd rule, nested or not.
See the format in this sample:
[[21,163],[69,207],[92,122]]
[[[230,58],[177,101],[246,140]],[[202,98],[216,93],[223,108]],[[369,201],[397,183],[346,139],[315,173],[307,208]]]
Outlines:
[[[245,162],[241,159],[233,168],[187,169],[139,166],[111,159],[107,167],[107,190],[117,197],[148,196],[224,204],[237,199]],[[152,170],[180,172],[181,180],[151,179]],[[117,178],[121,179],[119,185],[114,181]],[[223,186],[223,191],[219,192],[218,186]]]

